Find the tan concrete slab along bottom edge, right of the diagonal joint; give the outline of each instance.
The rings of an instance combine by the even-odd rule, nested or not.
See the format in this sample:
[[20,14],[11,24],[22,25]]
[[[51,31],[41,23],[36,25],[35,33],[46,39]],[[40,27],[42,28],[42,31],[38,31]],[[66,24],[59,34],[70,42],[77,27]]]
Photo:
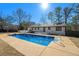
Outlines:
[[47,48],[41,55],[42,56],[73,56],[75,54],[58,50],[55,48]]

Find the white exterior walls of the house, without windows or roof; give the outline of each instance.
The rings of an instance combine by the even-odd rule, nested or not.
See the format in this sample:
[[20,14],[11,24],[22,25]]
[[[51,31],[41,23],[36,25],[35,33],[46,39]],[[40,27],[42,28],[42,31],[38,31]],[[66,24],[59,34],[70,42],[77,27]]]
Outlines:
[[[45,27],[45,33],[50,33],[50,34],[58,34],[58,35],[65,35],[65,27],[61,27],[62,30],[61,31],[56,31],[56,27],[50,27],[50,30],[48,29],[48,27]],[[30,28],[32,30],[32,28]],[[43,32],[43,27],[33,27],[33,31],[35,32]]]

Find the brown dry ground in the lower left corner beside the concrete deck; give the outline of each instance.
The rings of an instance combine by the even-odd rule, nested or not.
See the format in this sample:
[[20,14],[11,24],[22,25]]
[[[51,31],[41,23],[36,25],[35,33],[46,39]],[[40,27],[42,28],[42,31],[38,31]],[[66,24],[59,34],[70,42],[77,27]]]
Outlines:
[[23,56],[23,54],[15,50],[6,42],[0,40],[0,56]]

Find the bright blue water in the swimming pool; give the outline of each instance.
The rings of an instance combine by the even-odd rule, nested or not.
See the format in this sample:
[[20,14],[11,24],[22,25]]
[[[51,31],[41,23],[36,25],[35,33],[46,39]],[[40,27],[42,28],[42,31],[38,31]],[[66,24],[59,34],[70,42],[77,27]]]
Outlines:
[[48,46],[51,41],[54,40],[54,37],[50,36],[41,36],[41,35],[32,35],[32,34],[13,34],[13,37],[40,44],[43,46]]

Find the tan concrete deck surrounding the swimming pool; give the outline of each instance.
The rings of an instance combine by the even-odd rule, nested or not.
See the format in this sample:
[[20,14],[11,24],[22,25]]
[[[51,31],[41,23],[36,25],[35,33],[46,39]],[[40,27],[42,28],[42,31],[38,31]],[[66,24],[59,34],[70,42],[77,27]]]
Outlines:
[[8,33],[0,34],[1,40],[26,56],[79,56],[79,48],[68,37],[55,37],[61,38],[61,42],[51,42],[48,46],[41,46],[39,44],[8,36]]

